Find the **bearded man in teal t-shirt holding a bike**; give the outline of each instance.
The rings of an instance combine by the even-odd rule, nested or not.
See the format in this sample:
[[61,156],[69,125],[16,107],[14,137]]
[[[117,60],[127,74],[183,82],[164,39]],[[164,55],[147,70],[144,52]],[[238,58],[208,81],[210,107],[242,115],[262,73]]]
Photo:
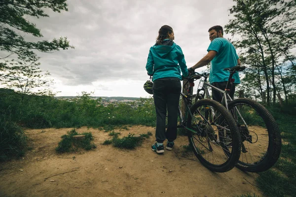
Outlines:
[[[224,90],[229,77],[229,71],[223,69],[240,65],[240,60],[234,46],[226,38],[223,38],[223,28],[221,26],[211,27],[208,32],[211,40],[207,50],[208,54],[194,66],[188,68],[188,71],[206,66],[211,62],[209,81],[211,85]],[[234,83],[230,89],[231,98],[233,98],[235,92],[235,84],[240,83],[238,73],[235,73],[232,78]],[[222,101],[222,93],[212,90],[212,96],[214,100]]]

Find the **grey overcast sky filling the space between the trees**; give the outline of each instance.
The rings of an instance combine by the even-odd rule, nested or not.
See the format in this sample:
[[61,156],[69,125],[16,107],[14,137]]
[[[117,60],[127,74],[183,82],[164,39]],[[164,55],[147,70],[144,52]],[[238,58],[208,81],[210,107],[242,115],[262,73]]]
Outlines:
[[[75,49],[38,53],[40,67],[55,80],[57,96],[81,91],[102,97],[148,97],[149,48],[158,30],[169,25],[181,46],[187,67],[204,55],[208,29],[224,27],[232,0],[68,0],[68,12],[48,11],[49,18],[27,18],[52,40],[67,36]],[[231,35],[224,34],[228,38]],[[30,39],[26,36],[25,39]],[[198,70],[200,71],[200,70]]]

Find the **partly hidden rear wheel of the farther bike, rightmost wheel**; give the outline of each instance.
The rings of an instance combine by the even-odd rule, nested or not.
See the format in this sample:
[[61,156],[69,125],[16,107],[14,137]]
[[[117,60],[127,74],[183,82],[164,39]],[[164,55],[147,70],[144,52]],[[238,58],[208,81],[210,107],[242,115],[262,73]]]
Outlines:
[[271,114],[251,99],[235,99],[228,107],[244,144],[238,167],[252,172],[270,168],[279,158],[277,147],[281,146],[280,133]]

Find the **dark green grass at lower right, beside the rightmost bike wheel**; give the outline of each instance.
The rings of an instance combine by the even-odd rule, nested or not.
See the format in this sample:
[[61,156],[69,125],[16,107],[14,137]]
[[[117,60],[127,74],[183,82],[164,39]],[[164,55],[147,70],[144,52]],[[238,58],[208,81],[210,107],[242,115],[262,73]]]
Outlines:
[[282,144],[282,152],[273,168],[260,172],[256,179],[259,189],[268,197],[293,197],[296,190],[296,116],[294,107],[270,107],[279,125],[282,138],[289,142]]

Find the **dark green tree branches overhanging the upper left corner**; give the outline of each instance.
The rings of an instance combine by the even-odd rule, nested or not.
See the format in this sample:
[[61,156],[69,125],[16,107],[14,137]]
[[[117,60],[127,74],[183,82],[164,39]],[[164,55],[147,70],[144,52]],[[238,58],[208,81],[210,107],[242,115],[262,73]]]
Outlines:
[[[34,61],[37,56],[33,50],[52,52],[74,48],[69,45],[66,37],[52,41],[31,42],[26,41],[20,34],[27,33],[35,37],[42,37],[43,35],[36,25],[25,19],[25,16],[49,17],[43,10],[46,8],[55,12],[68,11],[66,0],[0,0],[0,51],[16,54],[18,57],[27,57]],[[0,59],[5,59],[8,56],[0,57]],[[3,68],[4,64],[2,63],[0,69]]]

